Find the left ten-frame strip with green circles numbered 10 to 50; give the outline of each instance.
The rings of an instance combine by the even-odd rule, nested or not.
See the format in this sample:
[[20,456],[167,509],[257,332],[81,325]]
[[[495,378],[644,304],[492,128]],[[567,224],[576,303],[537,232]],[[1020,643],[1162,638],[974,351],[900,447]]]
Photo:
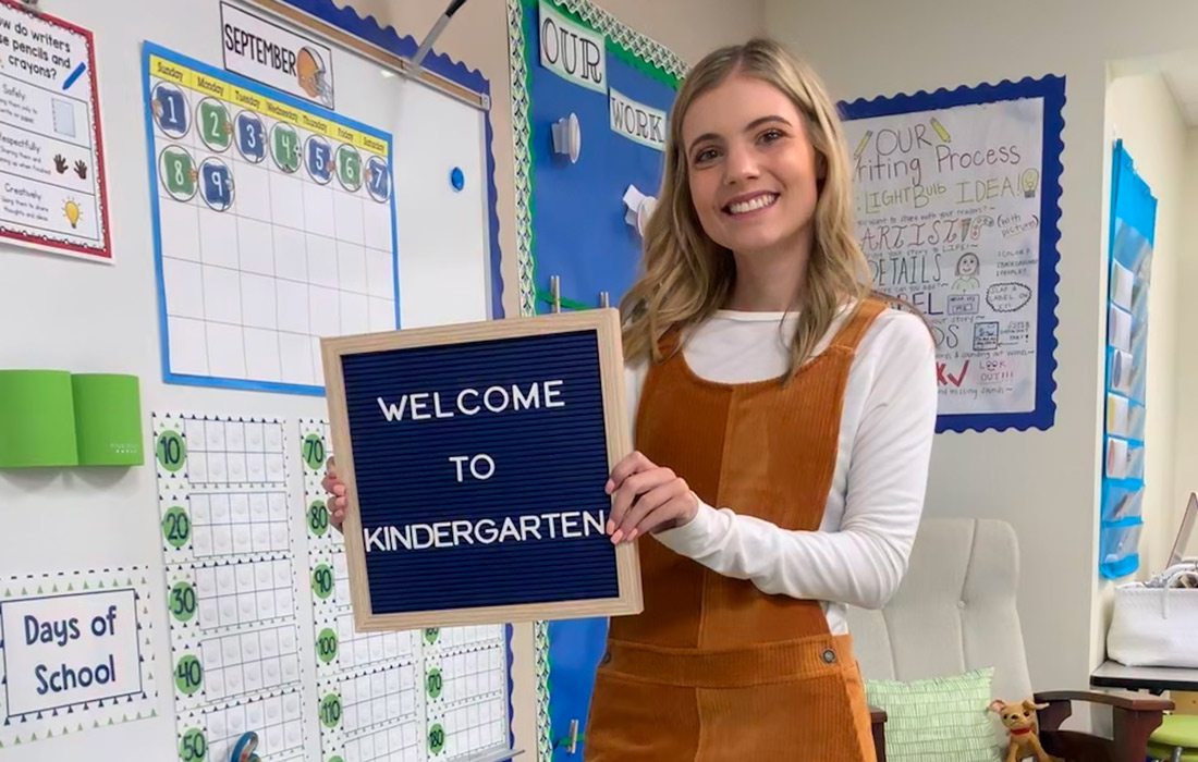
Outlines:
[[[303,657],[283,424],[153,416],[181,760],[303,758]],[[265,756],[265,755],[264,755]]]

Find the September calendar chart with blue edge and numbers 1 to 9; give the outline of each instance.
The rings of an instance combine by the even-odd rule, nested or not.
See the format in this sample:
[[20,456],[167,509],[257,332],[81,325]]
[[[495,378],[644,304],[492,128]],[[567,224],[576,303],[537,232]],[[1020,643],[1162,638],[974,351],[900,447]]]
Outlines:
[[320,338],[399,325],[388,133],[144,49],[168,382],[320,395]]

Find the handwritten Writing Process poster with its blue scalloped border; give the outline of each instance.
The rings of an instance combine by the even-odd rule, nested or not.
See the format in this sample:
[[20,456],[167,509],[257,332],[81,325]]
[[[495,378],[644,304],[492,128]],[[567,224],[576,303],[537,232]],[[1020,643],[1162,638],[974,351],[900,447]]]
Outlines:
[[937,430],[1054,418],[1057,77],[842,104],[873,285],[937,344]]

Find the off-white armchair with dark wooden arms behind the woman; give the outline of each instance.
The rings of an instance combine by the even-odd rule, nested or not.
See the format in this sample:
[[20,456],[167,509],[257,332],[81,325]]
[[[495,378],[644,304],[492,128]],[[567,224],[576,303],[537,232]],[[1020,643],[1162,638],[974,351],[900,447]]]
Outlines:
[[[1019,550],[1005,521],[925,519],[910,568],[881,611],[849,609],[849,629],[866,679],[914,681],[994,667],[994,696],[1033,694],[1016,609]],[[1079,646],[1081,647],[1081,646]],[[1172,702],[1135,694],[1035,694],[1045,749],[1065,760],[1143,762],[1148,736]],[[1063,731],[1072,701],[1113,707],[1114,736]],[[885,762],[885,716],[875,713],[873,736]]]

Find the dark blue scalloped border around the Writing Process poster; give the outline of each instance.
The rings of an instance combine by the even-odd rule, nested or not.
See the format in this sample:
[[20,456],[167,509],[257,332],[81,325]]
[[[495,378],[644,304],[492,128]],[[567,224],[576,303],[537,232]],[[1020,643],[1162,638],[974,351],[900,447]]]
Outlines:
[[1060,243],[1060,179],[1064,173],[1061,152],[1065,149],[1061,137],[1065,129],[1065,78],[1054,74],[1047,74],[1040,79],[1025,77],[1019,81],[1003,80],[998,84],[981,84],[972,87],[961,85],[955,90],[942,87],[934,92],[920,90],[910,95],[879,96],[872,99],[858,98],[840,103],[843,117],[855,120],[1021,98],[1043,98],[1045,103],[1042,167],[1040,170],[1043,194],[1040,199],[1040,274],[1037,280],[1040,292],[1037,295],[1035,410],[1021,413],[937,416],[937,433],[985,431],[987,429],[996,431],[1004,429],[1047,430],[1055,421],[1057,405],[1053,397],[1057,392],[1057,306],[1059,302],[1057,286],[1060,283],[1057,267],[1060,262],[1058,244]]

